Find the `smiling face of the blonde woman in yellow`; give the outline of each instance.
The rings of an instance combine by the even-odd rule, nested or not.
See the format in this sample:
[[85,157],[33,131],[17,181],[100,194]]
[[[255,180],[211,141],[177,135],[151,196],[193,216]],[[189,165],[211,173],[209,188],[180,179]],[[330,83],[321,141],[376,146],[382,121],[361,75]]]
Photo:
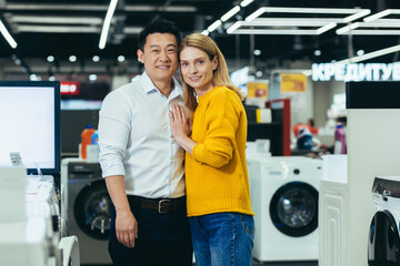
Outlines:
[[194,89],[198,96],[213,88],[212,76],[218,65],[217,58],[211,61],[204,51],[193,47],[186,47],[179,57],[183,80]]

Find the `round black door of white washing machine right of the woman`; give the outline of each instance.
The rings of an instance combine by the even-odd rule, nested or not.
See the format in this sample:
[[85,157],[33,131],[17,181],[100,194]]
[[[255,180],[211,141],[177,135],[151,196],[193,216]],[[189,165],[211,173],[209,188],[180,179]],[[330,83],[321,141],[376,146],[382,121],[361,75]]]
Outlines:
[[283,234],[306,236],[318,227],[318,191],[303,182],[279,187],[270,203],[273,225]]

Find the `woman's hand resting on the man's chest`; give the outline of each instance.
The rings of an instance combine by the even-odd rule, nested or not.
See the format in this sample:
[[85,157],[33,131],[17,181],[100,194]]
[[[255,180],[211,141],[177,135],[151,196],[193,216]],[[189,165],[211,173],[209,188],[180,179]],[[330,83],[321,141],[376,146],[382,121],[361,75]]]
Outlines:
[[186,117],[183,106],[176,103],[169,112],[169,119],[173,140],[176,140],[184,151],[192,154],[192,150],[197,143],[189,137],[192,131],[192,121]]

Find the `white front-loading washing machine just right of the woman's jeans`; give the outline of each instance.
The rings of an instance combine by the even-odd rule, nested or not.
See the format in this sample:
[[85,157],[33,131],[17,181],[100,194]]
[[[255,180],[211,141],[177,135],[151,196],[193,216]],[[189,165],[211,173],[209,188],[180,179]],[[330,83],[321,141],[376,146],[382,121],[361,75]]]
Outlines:
[[322,160],[248,156],[259,262],[318,260],[318,197]]

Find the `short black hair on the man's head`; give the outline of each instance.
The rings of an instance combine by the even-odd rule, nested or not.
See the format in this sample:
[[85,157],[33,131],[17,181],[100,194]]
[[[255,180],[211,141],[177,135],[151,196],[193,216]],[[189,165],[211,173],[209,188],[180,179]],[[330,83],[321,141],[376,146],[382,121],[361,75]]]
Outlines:
[[144,50],[147,37],[152,33],[171,33],[177,39],[177,44],[181,41],[181,32],[177,24],[164,19],[157,19],[151,21],[139,34],[138,49]]

